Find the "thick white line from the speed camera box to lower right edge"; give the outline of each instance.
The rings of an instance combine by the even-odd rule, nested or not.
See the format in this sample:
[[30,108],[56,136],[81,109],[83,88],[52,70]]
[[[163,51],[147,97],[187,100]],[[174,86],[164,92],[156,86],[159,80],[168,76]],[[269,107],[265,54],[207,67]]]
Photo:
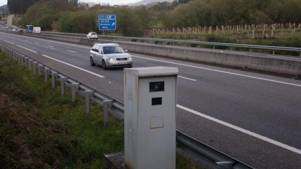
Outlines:
[[296,148],[294,148],[294,147],[291,147],[291,146],[289,146],[289,145],[280,143],[280,142],[278,142],[278,141],[276,141],[276,140],[272,140],[272,139],[270,139],[270,138],[268,138],[268,137],[265,137],[265,136],[256,134],[256,133],[254,133],[254,132],[252,132],[252,131],[248,131],[248,130],[246,130],[246,129],[240,128],[240,127],[238,127],[238,126],[235,126],[235,125],[233,125],[233,124],[227,123],[227,122],[225,122],[225,121],[221,121],[221,120],[219,120],[219,119],[217,119],[217,118],[214,118],[214,117],[211,117],[211,116],[209,116],[209,115],[205,115],[205,114],[203,114],[203,113],[194,111],[194,110],[189,109],[189,108],[187,108],[187,107],[184,107],[184,106],[181,106],[181,105],[178,105],[178,104],[177,104],[177,107],[180,108],[180,109],[186,110],[186,111],[188,111],[188,112],[191,112],[191,113],[193,113],[193,114],[199,115],[199,116],[201,116],[201,117],[203,117],[203,118],[206,118],[206,119],[208,119],[208,120],[211,120],[211,121],[214,121],[214,122],[216,122],[216,123],[225,125],[225,126],[227,126],[227,127],[229,127],[229,128],[233,128],[234,130],[237,130],[237,131],[243,132],[243,133],[245,133],[245,134],[248,134],[248,135],[250,135],[250,136],[256,137],[256,138],[258,138],[258,139],[260,139],[260,140],[264,140],[264,141],[266,141],[266,142],[268,142],[268,143],[272,143],[272,144],[274,144],[274,145],[276,145],[276,146],[280,146],[280,147],[282,147],[282,148],[284,148],[284,149],[287,149],[287,150],[290,150],[290,151],[292,151],[292,152],[296,152],[296,153],[298,153],[298,154],[301,154],[301,150],[296,149]]

